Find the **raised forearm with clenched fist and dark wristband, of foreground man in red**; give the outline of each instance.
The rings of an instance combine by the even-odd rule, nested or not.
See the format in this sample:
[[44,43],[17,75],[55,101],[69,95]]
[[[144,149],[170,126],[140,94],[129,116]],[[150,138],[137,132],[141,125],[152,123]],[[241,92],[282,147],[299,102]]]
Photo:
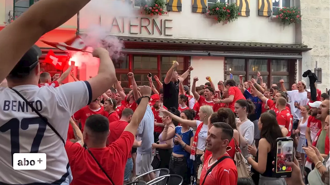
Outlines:
[[140,87],[140,92],[142,95],[141,102],[135,109],[135,112],[132,116],[132,120],[124,130],[131,132],[134,136],[136,135],[140,122],[146,113],[147,105],[149,104],[149,99],[151,96],[151,88],[149,86],[142,86]]

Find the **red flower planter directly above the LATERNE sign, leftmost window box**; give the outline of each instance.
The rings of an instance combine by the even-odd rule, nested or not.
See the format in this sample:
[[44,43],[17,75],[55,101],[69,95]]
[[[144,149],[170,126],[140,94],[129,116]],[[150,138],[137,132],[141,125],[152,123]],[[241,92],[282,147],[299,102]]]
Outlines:
[[140,0],[141,8],[145,11],[146,15],[163,15],[167,14],[164,11],[164,0]]

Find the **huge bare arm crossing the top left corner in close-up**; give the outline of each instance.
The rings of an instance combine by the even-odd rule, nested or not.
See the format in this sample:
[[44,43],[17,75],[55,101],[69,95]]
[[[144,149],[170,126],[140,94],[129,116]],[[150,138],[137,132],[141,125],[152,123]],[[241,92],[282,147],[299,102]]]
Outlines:
[[65,23],[90,0],[42,0],[0,32],[0,82],[45,33]]

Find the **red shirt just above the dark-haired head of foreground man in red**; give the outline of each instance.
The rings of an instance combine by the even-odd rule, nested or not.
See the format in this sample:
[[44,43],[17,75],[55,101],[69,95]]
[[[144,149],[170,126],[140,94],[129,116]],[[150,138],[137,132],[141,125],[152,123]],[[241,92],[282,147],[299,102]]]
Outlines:
[[93,114],[100,114],[103,115],[105,117],[108,117],[108,112],[104,110],[104,107],[101,106],[98,110],[91,110],[88,105],[83,107],[82,109],[80,109],[79,111],[77,111],[74,115],[73,118],[75,120],[81,120],[81,124],[82,124],[82,129],[81,131],[83,132],[83,127],[85,126],[85,122],[86,119]]

